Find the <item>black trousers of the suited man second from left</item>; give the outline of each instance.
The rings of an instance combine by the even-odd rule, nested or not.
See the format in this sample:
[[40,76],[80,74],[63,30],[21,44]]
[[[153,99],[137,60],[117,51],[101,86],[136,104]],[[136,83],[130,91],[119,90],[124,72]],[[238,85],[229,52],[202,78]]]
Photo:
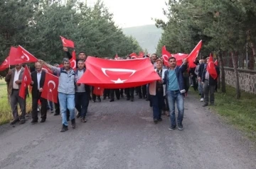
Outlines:
[[41,102],[41,119],[46,120],[47,100],[45,98],[41,98],[41,92],[39,91],[32,97],[32,120],[38,121],[38,100]]

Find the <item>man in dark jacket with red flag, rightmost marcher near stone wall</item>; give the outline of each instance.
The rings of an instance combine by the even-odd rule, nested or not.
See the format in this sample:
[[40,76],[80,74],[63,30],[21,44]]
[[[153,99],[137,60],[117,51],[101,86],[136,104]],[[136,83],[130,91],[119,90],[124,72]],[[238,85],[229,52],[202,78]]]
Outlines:
[[[208,64],[209,58],[207,58],[207,64]],[[207,65],[206,65],[207,67]],[[217,75],[219,76],[220,74],[220,69],[218,66],[215,65],[215,69],[217,71]],[[208,106],[209,104],[209,93],[210,93],[210,105],[214,105],[214,91],[215,91],[215,86],[218,83],[218,76],[217,78],[212,78],[210,76],[209,72],[207,69],[203,69],[203,74],[202,74],[202,82],[203,82],[203,94],[204,94],[204,104],[203,107]]]

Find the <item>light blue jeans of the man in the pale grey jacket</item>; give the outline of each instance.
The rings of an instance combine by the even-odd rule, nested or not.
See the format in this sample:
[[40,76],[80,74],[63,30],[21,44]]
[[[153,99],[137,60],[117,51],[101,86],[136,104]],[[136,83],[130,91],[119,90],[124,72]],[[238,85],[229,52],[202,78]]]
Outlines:
[[75,94],[64,94],[59,92],[58,98],[60,101],[60,112],[62,117],[62,123],[65,126],[68,126],[67,108],[70,112],[70,120],[75,119]]

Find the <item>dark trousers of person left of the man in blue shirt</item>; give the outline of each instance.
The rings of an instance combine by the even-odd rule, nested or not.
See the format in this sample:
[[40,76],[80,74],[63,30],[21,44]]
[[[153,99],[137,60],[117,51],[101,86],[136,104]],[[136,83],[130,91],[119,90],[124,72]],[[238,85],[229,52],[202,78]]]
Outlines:
[[161,110],[164,103],[164,91],[156,91],[156,95],[150,95],[153,105],[153,119],[161,119]]

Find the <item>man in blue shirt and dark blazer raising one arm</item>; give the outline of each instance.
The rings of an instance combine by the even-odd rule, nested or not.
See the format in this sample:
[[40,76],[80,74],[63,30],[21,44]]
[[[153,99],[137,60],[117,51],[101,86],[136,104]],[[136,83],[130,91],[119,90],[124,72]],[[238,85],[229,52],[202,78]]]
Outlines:
[[178,129],[183,129],[183,113],[184,113],[184,94],[185,86],[183,81],[183,72],[186,71],[187,61],[183,59],[181,66],[176,66],[176,58],[169,58],[170,69],[164,72],[164,84],[166,84],[166,95],[170,109],[171,127],[169,130],[176,129],[175,102],[178,108]]

